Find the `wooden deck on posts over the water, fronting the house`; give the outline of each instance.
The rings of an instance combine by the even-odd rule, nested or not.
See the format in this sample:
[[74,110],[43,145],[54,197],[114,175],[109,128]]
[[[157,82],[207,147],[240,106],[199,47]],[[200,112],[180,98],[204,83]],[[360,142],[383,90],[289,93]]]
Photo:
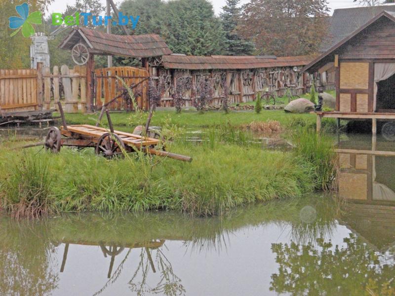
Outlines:
[[317,133],[321,131],[321,120],[324,117],[340,119],[372,119],[372,134],[377,133],[377,120],[395,120],[395,113],[383,112],[339,112],[339,111],[316,111]]

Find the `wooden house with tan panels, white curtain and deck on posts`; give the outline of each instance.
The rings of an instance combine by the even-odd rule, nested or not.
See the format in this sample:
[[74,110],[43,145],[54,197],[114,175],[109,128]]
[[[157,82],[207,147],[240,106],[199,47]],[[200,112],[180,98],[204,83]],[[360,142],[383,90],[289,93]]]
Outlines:
[[333,65],[336,111],[317,112],[342,119],[395,119],[395,13],[381,11],[317,57],[302,71],[311,74]]

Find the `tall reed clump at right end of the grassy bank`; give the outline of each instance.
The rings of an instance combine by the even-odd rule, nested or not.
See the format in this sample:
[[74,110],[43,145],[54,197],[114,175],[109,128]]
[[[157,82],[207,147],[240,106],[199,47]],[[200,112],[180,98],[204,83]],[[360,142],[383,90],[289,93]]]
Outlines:
[[293,135],[294,155],[302,166],[313,170],[313,182],[317,190],[330,191],[335,188],[337,175],[336,152],[330,137],[317,135],[309,129],[299,129]]

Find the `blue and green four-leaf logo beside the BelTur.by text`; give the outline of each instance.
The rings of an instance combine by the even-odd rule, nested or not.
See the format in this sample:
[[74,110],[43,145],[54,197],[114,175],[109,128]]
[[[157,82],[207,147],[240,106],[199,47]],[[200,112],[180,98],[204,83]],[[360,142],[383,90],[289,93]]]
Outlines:
[[16,12],[18,12],[19,16],[10,16],[8,18],[9,25],[12,30],[16,30],[10,36],[14,36],[22,29],[23,37],[31,37],[36,33],[32,24],[40,25],[42,23],[42,17],[40,11],[32,12],[29,15],[29,5],[28,3],[23,3],[21,5],[15,6]]

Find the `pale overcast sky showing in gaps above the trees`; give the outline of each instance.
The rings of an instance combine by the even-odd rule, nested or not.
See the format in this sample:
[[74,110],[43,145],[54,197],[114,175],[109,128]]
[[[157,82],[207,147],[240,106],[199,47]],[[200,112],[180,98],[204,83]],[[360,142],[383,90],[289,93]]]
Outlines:
[[[106,0],[98,0],[102,2],[103,4],[106,4]],[[193,0],[192,0],[193,1]],[[214,10],[216,14],[219,14],[221,12],[221,7],[225,5],[226,0],[210,0],[213,3]],[[337,8],[348,8],[348,7],[356,7],[358,6],[356,3],[354,3],[353,0],[327,0],[328,1],[328,7],[331,9],[331,14],[334,9]],[[74,0],[54,0],[54,2],[51,4],[49,7],[49,12],[62,12],[66,9],[66,5],[73,4]],[[116,4],[118,2],[115,0]],[[241,0],[240,3],[244,4],[247,3],[248,0]]]

